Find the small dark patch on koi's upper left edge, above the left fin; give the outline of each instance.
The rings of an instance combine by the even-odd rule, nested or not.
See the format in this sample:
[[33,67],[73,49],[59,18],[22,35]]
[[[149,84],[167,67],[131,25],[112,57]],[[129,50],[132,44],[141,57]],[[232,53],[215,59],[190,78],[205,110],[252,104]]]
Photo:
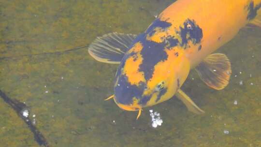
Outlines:
[[148,33],[150,36],[152,36],[155,33],[155,28],[168,28],[172,24],[166,21],[161,21],[159,18],[154,20],[154,22],[148,27],[148,29],[145,31],[145,33]]

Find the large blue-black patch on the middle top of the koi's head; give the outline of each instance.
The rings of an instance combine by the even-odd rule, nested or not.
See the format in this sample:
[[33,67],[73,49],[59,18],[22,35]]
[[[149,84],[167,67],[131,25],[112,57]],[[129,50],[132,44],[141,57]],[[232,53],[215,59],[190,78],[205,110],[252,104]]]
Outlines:
[[143,58],[142,64],[139,66],[139,71],[144,72],[146,81],[152,78],[154,73],[154,66],[168,58],[167,53],[164,51],[165,43],[156,43],[143,39],[143,49],[141,55]]

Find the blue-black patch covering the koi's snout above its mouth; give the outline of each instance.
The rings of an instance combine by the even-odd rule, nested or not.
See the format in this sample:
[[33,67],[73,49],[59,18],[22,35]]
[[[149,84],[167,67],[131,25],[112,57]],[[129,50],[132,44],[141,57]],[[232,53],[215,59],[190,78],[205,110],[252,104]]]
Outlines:
[[116,102],[121,104],[131,104],[133,103],[133,97],[141,99],[144,85],[145,83],[142,81],[139,83],[139,86],[131,85],[126,75],[120,75],[118,83],[116,83],[116,86],[114,87]]

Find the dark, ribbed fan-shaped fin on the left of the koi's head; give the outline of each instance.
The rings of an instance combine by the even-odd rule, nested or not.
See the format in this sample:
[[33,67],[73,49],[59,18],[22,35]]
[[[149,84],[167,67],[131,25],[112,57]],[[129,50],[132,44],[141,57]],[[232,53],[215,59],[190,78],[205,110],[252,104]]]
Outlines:
[[134,34],[109,33],[97,37],[89,45],[88,52],[100,62],[119,64],[135,38]]

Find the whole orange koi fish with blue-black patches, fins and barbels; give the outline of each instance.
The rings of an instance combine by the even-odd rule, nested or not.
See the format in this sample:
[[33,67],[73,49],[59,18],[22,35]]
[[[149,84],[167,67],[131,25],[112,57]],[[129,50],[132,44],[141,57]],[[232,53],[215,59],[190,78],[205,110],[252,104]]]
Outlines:
[[[181,90],[190,70],[214,89],[225,88],[232,73],[224,54],[212,52],[247,24],[261,27],[261,0],[177,0],[140,35],[110,33],[98,37],[88,52],[96,60],[119,64],[115,103],[124,110],[169,100],[174,95],[189,111],[203,114]],[[108,100],[106,99],[106,100]]]

